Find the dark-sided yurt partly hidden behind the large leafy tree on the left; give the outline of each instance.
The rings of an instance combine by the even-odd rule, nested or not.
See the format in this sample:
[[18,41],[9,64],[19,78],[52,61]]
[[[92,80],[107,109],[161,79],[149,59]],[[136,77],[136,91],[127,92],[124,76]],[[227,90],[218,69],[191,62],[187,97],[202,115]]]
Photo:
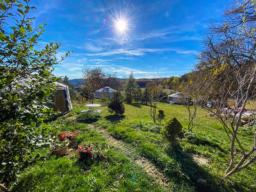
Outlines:
[[54,82],[56,92],[52,95],[52,108],[54,111],[60,111],[61,114],[70,111],[73,106],[68,92],[68,86],[62,83]]

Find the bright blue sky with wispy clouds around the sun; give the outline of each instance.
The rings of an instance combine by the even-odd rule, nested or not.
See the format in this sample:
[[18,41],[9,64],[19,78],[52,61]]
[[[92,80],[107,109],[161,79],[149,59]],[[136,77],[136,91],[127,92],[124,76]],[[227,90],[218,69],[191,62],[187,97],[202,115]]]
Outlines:
[[[109,74],[148,78],[189,72],[200,51],[209,18],[218,18],[227,1],[70,1],[32,0],[38,26],[46,18],[41,44],[61,42],[58,58],[74,51],[56,76],[81,78],[83,65],[101,67]],[[124,20],[124,31],[116,21]]]

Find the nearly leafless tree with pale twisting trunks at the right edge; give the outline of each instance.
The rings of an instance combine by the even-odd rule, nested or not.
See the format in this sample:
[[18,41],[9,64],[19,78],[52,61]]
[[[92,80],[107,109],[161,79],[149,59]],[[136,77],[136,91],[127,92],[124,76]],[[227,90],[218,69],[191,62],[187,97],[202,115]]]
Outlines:
[[256,83],[255,8],[252,1],[241,1],[232,4],[222,20],[212,20],[196,66],[201,99],[212,102],[212,108],[201,106],[221,122],[230,140],[226,177],[256,160],[256,132],[247,150],[238,136],[244,108]]

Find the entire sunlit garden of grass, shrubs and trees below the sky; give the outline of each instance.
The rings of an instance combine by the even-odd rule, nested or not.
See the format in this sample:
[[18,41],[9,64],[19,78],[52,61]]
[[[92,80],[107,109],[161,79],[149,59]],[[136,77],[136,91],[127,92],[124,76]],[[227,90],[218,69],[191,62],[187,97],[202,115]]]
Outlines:
[[[0,1],[1,190],[256,191],[253,1],[211,22],[188,74],[153,72],[141,88],[132,72],[84,65],[76,90],[53,73],[73,51],[39,45],[46,23],[34,26],[29,3]],[[95,97],[102,86],[115,88],[108,99]]]

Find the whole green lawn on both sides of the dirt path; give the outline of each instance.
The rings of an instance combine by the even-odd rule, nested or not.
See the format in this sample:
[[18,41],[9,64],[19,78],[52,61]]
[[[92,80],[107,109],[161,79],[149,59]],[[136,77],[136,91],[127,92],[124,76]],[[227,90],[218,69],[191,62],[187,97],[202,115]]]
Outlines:
[[[79,161],[76,148],[63,157],[50,154],[49,148],[38,150],[41,160],[32,164],[11,184],[13,191],[255,191],[256,163],[226,179],[229,142],[220,123],[203,109],[198,109],[193,132],[187,132],[188,113],[184,106],[159,103],[166,115],[162,124],[154,124],[150,107],[125,104],[125,113],[114,116],[104,108],[99,116],[88,116],[74,104],[68,115],[52,122],[56,132],[79,131],[77,144],[97,145],[100,156],[90,163]],[[160,134],[164,122],[176,117],[184,129],[184,138],[170,146]],[[136,149],[132,156],[145,157],[169,179],[164,188],[151,175],[97,129]],[[252,145],[253,128],[244,127],[239,134],[244,145]],[[197,160],[196,160],[196,158]],[[203,161],[199,161],[199,160]]]

